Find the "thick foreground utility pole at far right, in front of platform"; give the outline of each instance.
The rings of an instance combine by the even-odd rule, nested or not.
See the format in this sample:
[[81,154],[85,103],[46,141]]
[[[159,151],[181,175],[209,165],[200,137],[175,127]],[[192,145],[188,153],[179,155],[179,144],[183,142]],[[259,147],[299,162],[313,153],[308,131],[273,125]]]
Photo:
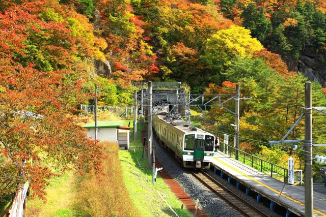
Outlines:
[[312,103],[311,82],[306,82],[305,87],[305,216],[312,217],[313,185],[312,185]]

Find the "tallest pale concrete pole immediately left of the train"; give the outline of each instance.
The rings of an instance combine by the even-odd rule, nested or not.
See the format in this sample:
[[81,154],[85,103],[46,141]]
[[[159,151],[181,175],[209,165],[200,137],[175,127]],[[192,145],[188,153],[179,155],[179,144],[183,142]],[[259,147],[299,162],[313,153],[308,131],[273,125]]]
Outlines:
[[152,168],[152,82],[148,82],[147,90],[147,159],[148,168]]

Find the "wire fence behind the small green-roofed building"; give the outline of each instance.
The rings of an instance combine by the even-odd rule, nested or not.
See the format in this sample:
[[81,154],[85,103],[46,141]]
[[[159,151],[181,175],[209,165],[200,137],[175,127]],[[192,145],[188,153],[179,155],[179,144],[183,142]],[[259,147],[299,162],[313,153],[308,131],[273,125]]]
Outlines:
[[[94,113],[95,106],[94,105],[80,105],[80,110],[83,110],[87,113]],[[127,106],[97,106],[98,111],[110,112],[121,117],[133,117],[134,115],[134,107]]]

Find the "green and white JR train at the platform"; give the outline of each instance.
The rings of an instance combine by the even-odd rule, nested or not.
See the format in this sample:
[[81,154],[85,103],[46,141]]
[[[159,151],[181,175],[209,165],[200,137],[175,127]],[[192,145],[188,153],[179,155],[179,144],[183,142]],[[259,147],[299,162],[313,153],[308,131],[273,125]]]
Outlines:
[[166,148],[185,168],[209,168],[214,156],[214,135],[182,119],[168,118],[166,111],[152,116],[153,129]]

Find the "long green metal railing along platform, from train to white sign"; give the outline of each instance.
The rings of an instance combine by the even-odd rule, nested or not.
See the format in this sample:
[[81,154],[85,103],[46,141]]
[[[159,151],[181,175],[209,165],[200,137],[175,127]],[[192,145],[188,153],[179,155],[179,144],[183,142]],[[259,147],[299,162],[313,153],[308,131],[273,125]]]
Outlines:
[[260,172],[270,174],[270,177],[274,176],[274,178],[277,179],[282,179],[283,177],[283,182],[287,182],[288,170],[286,168],[253,156],[250,153],[244,152],[230,145],[220,145],[220,151],[228,154],[232,158],[235,158],[235,153],[238,151],[238,161],[243,162],[243,164],[251,166],[257,170],[260,170]]

